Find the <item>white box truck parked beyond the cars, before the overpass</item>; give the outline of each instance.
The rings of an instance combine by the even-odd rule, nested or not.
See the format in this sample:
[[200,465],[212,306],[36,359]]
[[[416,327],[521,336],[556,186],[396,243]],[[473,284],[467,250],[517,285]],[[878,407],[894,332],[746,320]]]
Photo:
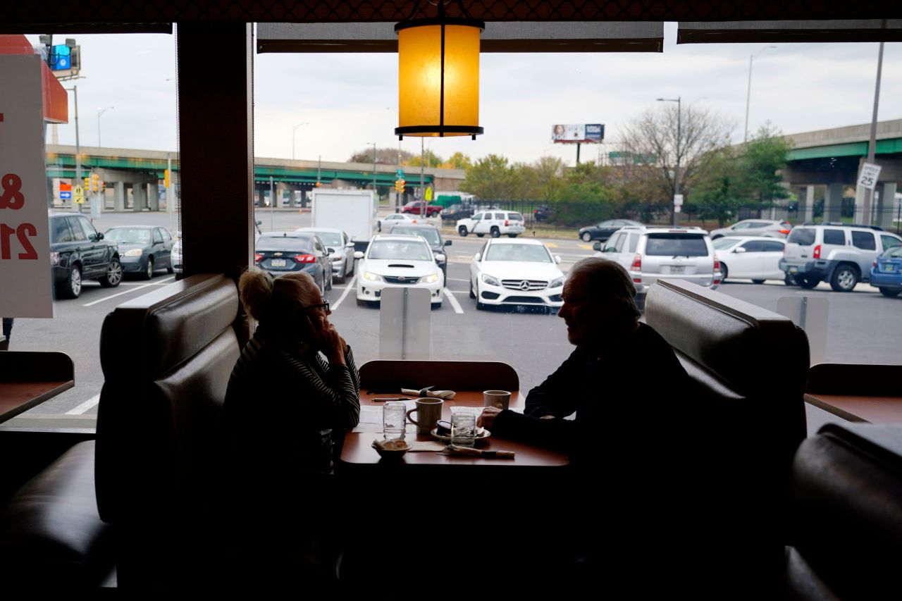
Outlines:
[[313,190],[313,227],[344,230],[356,250],[366,250],[376,224],[373,190]]

